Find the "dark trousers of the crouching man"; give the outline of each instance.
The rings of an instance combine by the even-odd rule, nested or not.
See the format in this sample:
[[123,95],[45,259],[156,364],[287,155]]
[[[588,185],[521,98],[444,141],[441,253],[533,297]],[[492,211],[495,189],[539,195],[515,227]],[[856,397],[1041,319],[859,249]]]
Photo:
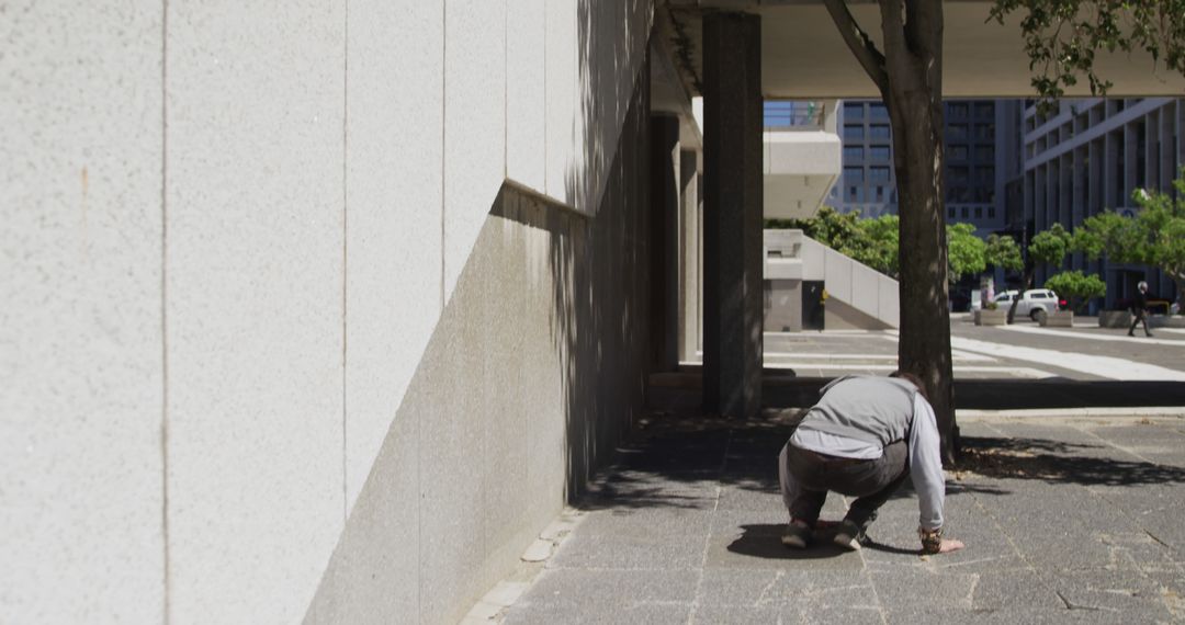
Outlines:
[[782,501],[792,518],[814,527],[828,491],[856,497],[845,518],[866,528],[909,477],[908,460],[904,440],[890,444],[879,458],[870,460],[832,458],[787,443],[777,459]]

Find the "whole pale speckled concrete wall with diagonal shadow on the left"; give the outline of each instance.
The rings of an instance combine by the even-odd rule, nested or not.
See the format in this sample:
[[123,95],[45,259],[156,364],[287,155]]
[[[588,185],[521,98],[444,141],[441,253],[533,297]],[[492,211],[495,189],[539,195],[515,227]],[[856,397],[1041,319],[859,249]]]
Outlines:
[[165,6],[0,30],[0,621],[449,621],[641,402],[651,2]]

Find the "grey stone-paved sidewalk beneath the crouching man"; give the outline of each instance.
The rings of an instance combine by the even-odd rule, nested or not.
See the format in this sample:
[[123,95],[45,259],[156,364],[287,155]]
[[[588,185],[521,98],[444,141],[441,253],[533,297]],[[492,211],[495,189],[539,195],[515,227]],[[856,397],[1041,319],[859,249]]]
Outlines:
[[658,419],[505,623],[1185,621],[1185,420],[961,426],[947,527],[967,548],[921,556],[911,492],[859,552],[783,548],[782,419]]

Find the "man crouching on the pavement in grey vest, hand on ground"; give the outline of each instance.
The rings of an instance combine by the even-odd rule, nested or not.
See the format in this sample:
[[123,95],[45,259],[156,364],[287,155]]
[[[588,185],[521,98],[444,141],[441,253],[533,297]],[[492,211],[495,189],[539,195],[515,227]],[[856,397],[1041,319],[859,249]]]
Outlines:
[[827,491],[856,497],[835,543],[859,549],[864,533],[898,487],[911,477],[921,518],[922,552],[963,547],[942,537],[942,453],[934,408],[921,380],[845,376],[822,388],[779,457],[782,498],[790,513],[782,543],[802,549],[814,534]]

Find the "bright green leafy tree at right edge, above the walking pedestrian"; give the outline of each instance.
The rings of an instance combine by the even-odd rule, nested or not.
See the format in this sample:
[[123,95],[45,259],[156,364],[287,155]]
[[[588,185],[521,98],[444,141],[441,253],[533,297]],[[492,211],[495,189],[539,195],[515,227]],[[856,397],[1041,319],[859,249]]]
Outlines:
[[1177,285],[1185,309],[1185,168],[1173,181],[1177,199],[1167,193],[1138,189],[1132,194],[1140,211],[1123,217],[1104,211],[1087,218],[1074,232],[1075,249],[1090,258],[1157,268]]

